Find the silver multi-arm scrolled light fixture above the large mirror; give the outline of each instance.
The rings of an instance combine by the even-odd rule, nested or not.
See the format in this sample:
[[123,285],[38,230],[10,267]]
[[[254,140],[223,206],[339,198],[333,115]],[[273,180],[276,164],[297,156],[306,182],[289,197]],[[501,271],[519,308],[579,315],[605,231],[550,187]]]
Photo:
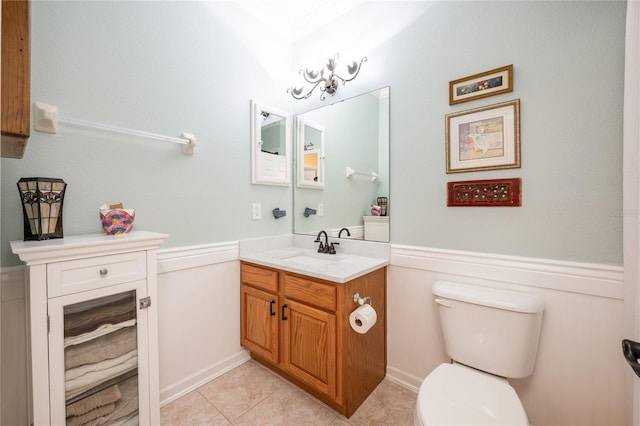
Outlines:
[[343,85],[347,81],[351,81],[358,76],[360,69],[362,68],[363,62],[367,60],[367,57],[364,56],[360,59],[360,62],[353,61],[350,65],[347,65],[347,74],[348,77],[344,78],[336,74],[336,70],[338,67],[338,59],[340,58],[340,54],[336,52],[333,55],[333,58],[327,59],[327,65],[325,68],[322,68],[319,71],[315,70],[300,70],[298,73],[304,77],[307,83],[311,84],[311,88],[305,92],[304,86],[301,87],[290,87],[287,89],[288,93],[291,93],[295,99],[307,99],[316,87],[320,90],[320,100],[324,101],[326,94],[335,95],[338,91],[338,86],[340,83]]

